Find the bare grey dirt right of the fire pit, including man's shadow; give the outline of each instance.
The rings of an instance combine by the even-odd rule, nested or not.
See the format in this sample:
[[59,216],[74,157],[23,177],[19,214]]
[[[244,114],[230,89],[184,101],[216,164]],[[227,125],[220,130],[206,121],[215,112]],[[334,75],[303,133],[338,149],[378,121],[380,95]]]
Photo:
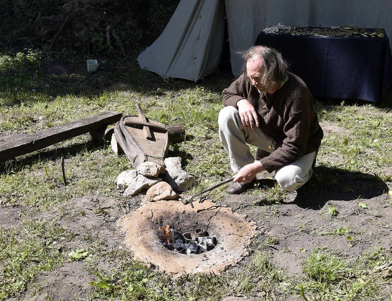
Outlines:
[[[315,173],[318,173],[317,167]],[[361,197],[353,191],[344,192],[346,186],[361,189]],[[360,207],[359,201],[368,208]],[[392,210],[388,186],[369,180],[345,179],[317,191],[302,187],[288,193],[280,204],[264,206],[243,195],[228,196],[219,203],[245,214],[248,221],[255,221],[263,239],[278,240],[268,251],[277,266],[290,276],[301,276],[301,258],[317,248],[336,250],[349,259],[361,256],[372,247],[391,245]],[[329,205],[337,210],[336,217],[331,217]],[[341,227],[344,233],[337,233]],[[348,241],[347,236],[351,236],[352,241]]]

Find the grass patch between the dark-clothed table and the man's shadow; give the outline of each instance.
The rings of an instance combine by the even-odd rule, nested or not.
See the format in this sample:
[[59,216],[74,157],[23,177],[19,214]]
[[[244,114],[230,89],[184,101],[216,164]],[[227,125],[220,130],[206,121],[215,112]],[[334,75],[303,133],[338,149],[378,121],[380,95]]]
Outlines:
[[387,106],[391,100],[374,105],[335,105],[319,110],[321,122],[343,127],[342,133],[331,133],[323,140],[323,155],[343,158],[344,169],[384,176],[383,168],[391,166],[391,117]]

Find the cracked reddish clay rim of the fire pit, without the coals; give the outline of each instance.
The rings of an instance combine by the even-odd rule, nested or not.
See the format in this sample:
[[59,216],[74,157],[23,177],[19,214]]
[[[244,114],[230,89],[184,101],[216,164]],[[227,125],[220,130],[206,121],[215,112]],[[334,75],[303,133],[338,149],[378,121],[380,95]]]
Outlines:
[[[181,232],[206,229],[218,238],[217,246],[202,254],[181,254],[166,249],[160,239],[162,226]],[[171,276],[199,272],[219,273],[248,254],[255,226],[230,208],[211,201],[195,203],[195,208],[178,201],[148,202],[123,216],[118,226],[125,233],[125,245],[136,260],[153,265]]]

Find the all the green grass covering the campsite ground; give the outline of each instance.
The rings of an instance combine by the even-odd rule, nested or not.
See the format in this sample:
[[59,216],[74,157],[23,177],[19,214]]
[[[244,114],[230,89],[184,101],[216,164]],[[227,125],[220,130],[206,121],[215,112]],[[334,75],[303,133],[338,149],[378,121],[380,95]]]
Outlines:
[[[180,156],[183,169],[195,176],[196,184],[186,194],[231,176],[217,131],[221,91],[231,83],[231,75],[215,74],[194,83],[162,79],[137,69],[125,74],[88,74],[84,63],[74,58],[74,75],[44,76],[35,72],[47,63],[39,51],[2,51],[2,135],[36,132],[101,110],[137,114],[135,102],[140,102],[149,118],[165,125],[185,125],[186,141],[171,144],[169,156]],[[391,97],[377,104],[317,101],[320,122],[343,130],[325,132],[318,157],[319,173],[310,182],[312,190],[333,187],[353,177],[391,181],[391,103]],[[65,158],[68,186],[63,185],[61,157]],[[118,199],[116,177],[131,168],[124,156],[115,155],[108,145],[96,145],[88,135],[0,164],[0,210],[14,212],[17,208],[23,221],[0,227],[0,300],[18,300],[27,291],[42,289],[39,276],[68,262],[70,250],[62,246],[75,242],[75,233],[56,222],[77,221],[86,214],[84,209],[73,210],[69,203],[95,194]],[[211,199],[225,196],[225,188],[212,191]],[[362,193],[361,189],[351,187],[357,194]],[[275,206],[287,198],[287,193],[275,185],[251,190],[247,196],[265,206]],[[120,202],[124,211],[132,205],[129,200]],[[324,217],[335,221],[339,217],[336,209],[331,205]],[[105,215],[105,209],[101,210],[95,212],[98,217]],[[50,220],[37,218],[49,213]],[[305,230],[310,225],[314,226],[304,223],[302,227]],[[346,224],[336,222],[323,234],[346,237],[348,244],[355,243]],[[234,267],[221,275],[183,275],[176,279],[133,261],[123,249],[105,246],[98,236],[83,235],[80,242],[87,246],[88,259],[81,259],[94,279],[91,297],[107,300],[222,300],[230,295],[259,296],[261,300],[283,300],[290,295],[304,300],[381,300],[380,296],[385,295],[381,289],[392,277],[392,257],[386,249],[374,249],[358,258],[346,258],[333,250],[313,250],[304,253],[304,276],[287,276],[266,252],[269,246],[279,244],[275,236],[260,241],[255,238],[253,253],[241,268]],[[72,251],[80,249],[77,245]],[[113,262],[113,267],[101,269],[101,258]]]

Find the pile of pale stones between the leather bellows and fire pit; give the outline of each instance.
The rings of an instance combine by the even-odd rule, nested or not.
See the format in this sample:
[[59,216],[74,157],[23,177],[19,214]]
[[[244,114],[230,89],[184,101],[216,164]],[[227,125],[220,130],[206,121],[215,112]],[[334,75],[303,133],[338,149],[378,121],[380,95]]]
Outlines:
[[117,188],[131,197],[147,191],[147,201],[174,200],[175,191],[189,189],[194,177],[181,169],[181,157],[166,158],[165,166],[148,161],[139,164],[136,170],[124,171],[117,177]]

